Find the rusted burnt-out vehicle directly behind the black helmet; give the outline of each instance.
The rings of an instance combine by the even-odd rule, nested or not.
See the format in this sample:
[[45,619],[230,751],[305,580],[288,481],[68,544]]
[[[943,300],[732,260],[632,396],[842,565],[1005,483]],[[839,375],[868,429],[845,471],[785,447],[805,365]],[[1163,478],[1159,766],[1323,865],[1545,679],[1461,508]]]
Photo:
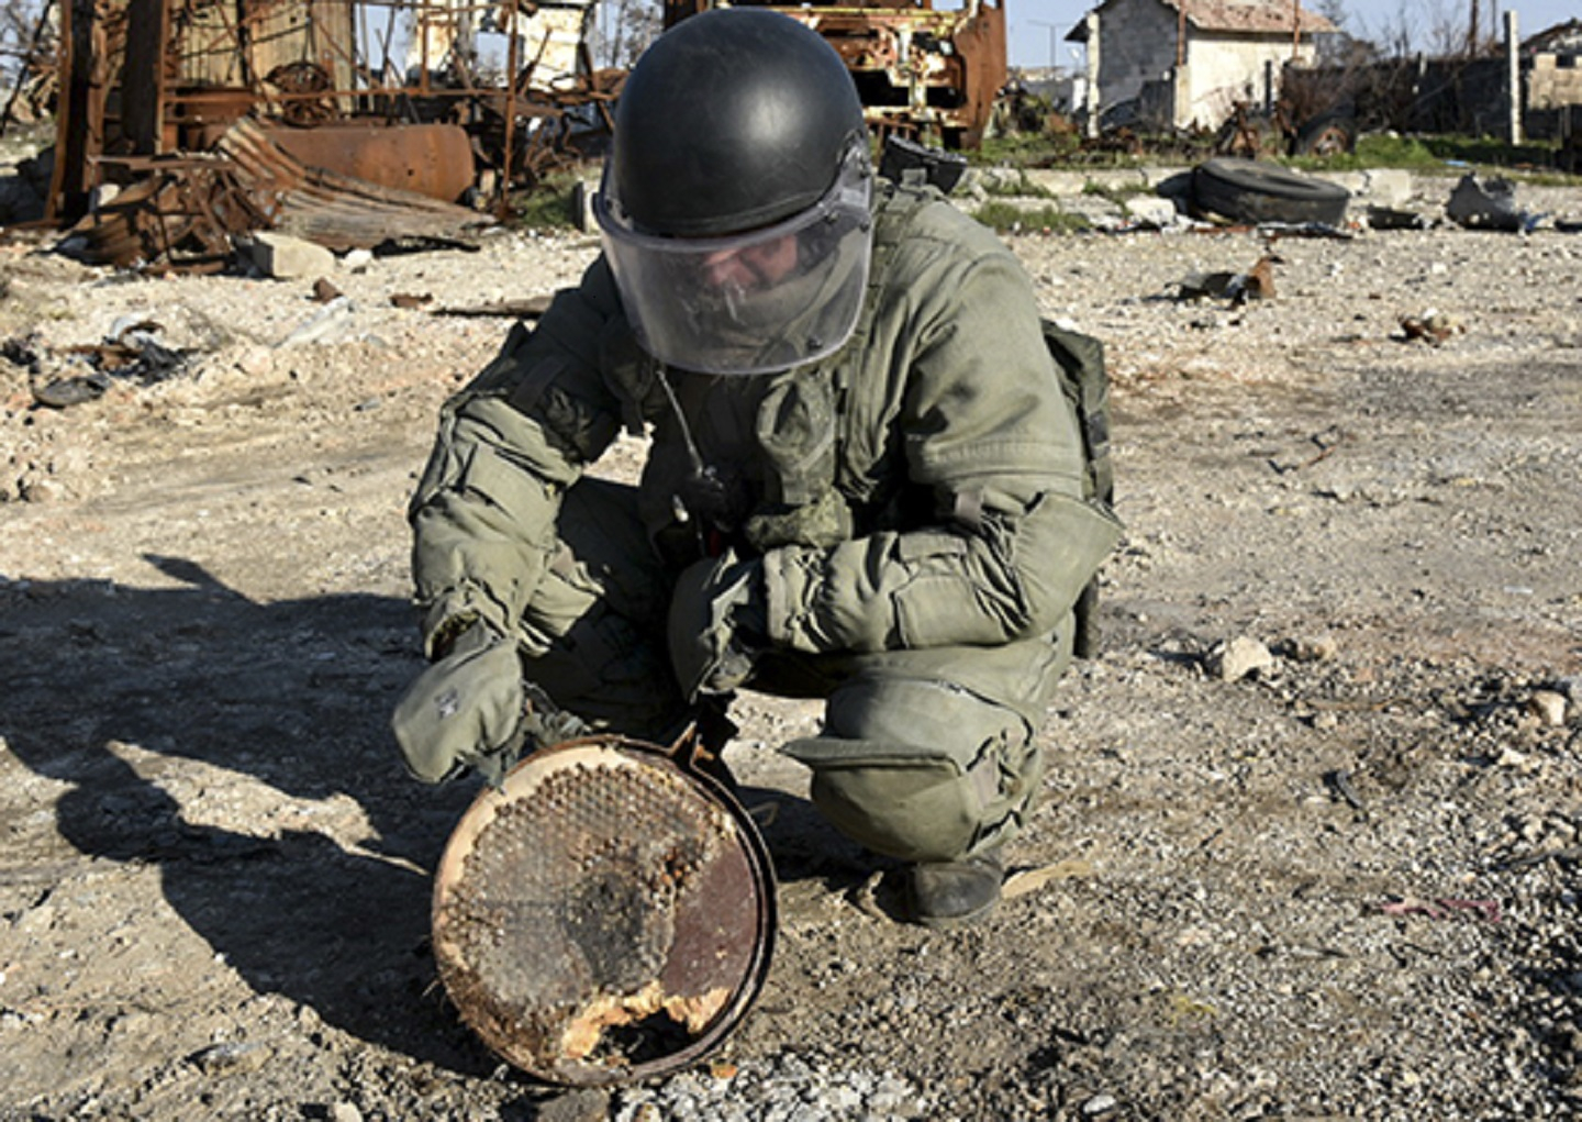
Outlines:
[[[664,0],[664,27],[712,6],[710,0]],[[932,0],[753,6],[785,13],[835,47],[880,136],[948,149],[982,144],[1008,76],[1001,0],[965,0],[952,9],[933,8]]]

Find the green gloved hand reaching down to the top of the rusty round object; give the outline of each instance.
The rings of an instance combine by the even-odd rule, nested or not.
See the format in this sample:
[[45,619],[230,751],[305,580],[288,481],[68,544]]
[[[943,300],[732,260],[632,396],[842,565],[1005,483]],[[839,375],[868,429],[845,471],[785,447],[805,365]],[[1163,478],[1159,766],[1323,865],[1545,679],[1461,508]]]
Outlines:
[[524,706],[516,644],[479,622],[408,687],[391,730],[407,769],[424,783],[462,768],[498,782],[520,755]]

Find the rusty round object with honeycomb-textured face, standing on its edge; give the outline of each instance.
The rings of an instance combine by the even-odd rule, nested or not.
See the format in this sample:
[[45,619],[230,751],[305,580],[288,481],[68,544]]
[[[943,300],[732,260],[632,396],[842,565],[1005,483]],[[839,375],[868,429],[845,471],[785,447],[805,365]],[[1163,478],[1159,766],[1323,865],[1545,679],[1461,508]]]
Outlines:
[[549,1082],[672,1071],[747,1014],[774,948],[774,872],[712,777],[604,736],[517,764],[462,817],[433,956],[462,1021]]

